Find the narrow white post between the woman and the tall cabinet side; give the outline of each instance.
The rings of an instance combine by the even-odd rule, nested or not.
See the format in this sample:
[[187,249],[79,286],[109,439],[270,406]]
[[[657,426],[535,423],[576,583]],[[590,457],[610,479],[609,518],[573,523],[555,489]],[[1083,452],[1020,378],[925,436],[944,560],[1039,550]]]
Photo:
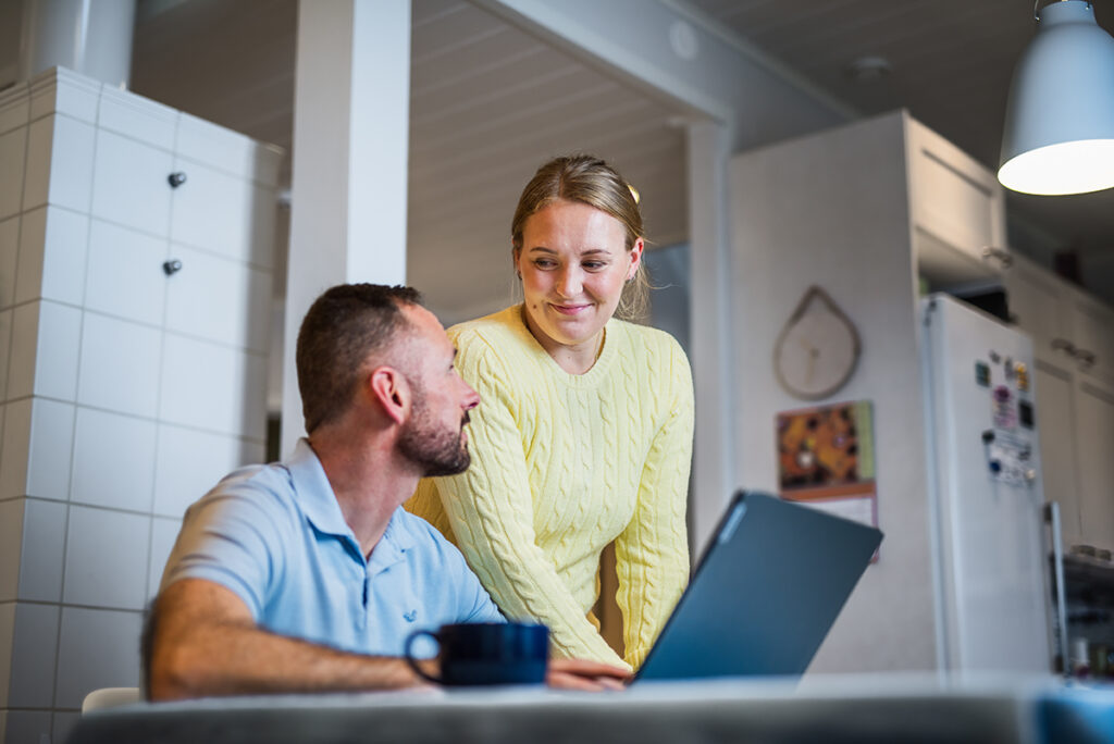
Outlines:
[[700,555],[736,487],[732,417],[745,402],[731,369],[731,239],[727,226],[726,125],[688,126],[688,233],[692,270],[691,343],[696,389],[693,458],[693,555]]

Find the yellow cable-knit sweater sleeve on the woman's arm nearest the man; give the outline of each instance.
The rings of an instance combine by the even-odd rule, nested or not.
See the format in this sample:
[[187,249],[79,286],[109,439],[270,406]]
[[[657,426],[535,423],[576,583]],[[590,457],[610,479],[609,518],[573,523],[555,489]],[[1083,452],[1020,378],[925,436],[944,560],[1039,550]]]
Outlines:
[[516,375],[478,340],[460,344],[457,364],[482,401],[468,427],[471,467],[436,480],[461,552],[508,618],[549,626],[557,655],[625,667],[536,542]]

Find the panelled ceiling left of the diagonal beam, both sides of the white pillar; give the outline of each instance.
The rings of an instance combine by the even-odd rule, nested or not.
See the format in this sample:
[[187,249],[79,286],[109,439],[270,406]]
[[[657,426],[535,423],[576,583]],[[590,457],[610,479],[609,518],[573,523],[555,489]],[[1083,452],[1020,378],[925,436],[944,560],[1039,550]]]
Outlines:
[[[289,151],[296,6],[141,0],[133,90]],[[554,155],[610,160],[651,241],[686,238],[673,111],[462,0],[414,0],[412,22],[407,280],[443,322],[512,300],[511,214]]]

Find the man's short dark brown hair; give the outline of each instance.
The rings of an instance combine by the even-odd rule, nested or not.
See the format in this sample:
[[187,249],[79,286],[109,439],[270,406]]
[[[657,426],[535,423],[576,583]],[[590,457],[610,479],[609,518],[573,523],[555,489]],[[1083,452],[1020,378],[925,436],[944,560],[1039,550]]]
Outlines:
[[297,389],[306,433],[343,414],[368,355],[410,325],[403,305],[420,305],[409,286],[339,284],[317,297],[297,333]]

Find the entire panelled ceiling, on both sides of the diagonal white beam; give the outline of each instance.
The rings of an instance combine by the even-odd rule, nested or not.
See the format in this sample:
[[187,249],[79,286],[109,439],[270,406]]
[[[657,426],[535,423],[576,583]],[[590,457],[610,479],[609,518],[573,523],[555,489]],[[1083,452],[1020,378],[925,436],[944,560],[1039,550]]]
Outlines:
[[[1034,31],[1025,0],[672,1],[863,115],[905,106],[997,166],[1009,77]],[[442,320],[509,300],[510,215],[555,154],[610,159],[642,192],[651,238],[685,239],[674,111],[467,0],[412,2],[409,281]],[[1112,4],[1096,7],[1106,28]],[[289,149],[295,25],[296,0],[139,0],[131,87]],[[852,81],[844,68],[862,55],[886,57],[891,74]],[[1079,251],[1088,283],[1114,301],[1114,192],[1010,195],[1009,209],[1048,245]]]

